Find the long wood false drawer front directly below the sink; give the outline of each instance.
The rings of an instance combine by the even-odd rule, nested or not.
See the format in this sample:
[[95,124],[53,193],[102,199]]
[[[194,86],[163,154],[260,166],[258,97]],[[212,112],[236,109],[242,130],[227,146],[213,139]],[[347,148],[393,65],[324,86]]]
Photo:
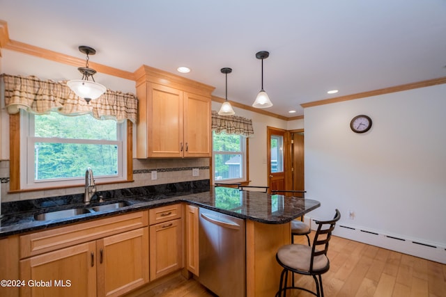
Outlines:
[[138,211],[22,235],[20,236],[20,259],[147,225],[148,212]]

